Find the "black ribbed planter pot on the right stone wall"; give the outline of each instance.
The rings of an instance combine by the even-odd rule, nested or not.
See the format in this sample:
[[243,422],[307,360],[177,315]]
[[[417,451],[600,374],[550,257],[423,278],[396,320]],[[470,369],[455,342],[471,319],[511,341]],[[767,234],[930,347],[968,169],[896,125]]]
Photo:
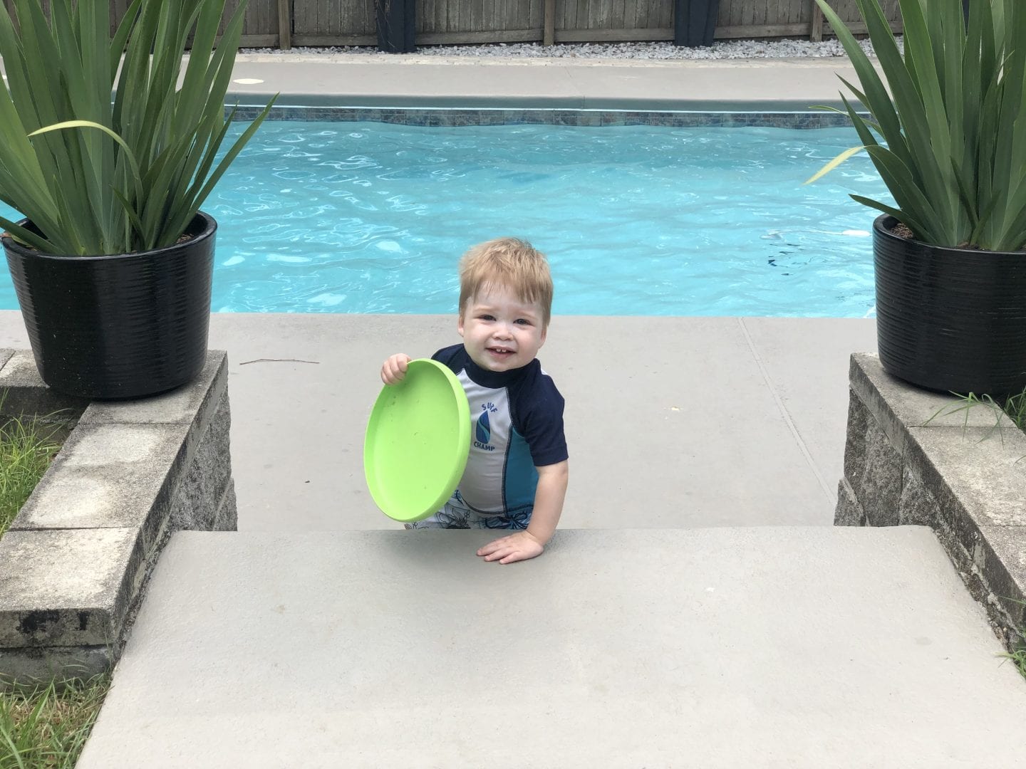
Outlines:
[[1026,388],[1026,253],[940,248],[873,222],[876,335],[886,371],[926,390]]

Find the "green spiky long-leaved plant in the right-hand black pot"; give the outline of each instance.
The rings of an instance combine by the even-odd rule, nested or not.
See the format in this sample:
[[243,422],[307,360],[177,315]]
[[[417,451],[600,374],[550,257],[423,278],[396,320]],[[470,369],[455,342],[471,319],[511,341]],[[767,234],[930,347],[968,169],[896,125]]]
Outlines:
[[862,146],[841,153],[810,181],[865,150],[897,208],[853,195],[859,203],[891,214],[923,243],[1022,250],[1026,3],[973,0],[966,25],[961,0],[900,0],[902,55],[879,2],[856,0],[881,79],[826,0],[816,2],[862,87],[841,81],[870,119],[842,94]]

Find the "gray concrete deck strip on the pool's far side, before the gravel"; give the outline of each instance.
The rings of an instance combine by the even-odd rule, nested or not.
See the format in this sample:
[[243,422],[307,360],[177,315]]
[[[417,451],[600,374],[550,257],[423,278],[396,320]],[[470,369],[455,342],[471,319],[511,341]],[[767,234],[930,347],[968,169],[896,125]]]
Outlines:
[[841,107],[846,58],[663,60],[240,54],[229,95],[348,107],[803,111]]

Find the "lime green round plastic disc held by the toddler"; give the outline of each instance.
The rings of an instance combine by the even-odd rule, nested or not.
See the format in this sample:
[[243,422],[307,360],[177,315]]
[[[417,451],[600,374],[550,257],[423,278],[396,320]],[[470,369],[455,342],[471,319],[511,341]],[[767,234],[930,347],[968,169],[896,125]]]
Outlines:
[[385,387],[367,421],[363,473],[389,518],[411,523],[437,512],[456,490],[470,453],[470,404],[447,367],[419,358]]

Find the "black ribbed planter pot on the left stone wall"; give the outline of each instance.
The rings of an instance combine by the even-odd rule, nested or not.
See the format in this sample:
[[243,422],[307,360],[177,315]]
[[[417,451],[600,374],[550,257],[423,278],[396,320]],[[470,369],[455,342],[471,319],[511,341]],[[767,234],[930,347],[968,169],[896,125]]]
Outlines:
[[216,229],[200,212],[187,242],[111,256],[53,256],[4,235],[43,381],[68,395],[114,399],[195,378],[206,359]]

